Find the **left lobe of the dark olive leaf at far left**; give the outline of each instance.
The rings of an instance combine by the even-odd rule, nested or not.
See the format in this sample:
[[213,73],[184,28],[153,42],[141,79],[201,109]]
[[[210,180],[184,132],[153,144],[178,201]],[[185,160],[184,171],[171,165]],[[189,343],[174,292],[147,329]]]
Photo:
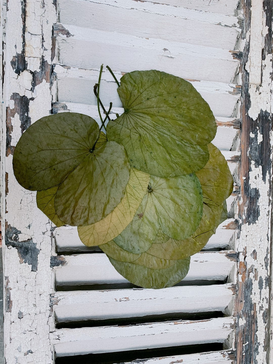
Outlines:
[[13,154],[17,181],[28,190],[59,185],[85,160],[99,137],[99,126],[74,112],[45,116],[21,136]]

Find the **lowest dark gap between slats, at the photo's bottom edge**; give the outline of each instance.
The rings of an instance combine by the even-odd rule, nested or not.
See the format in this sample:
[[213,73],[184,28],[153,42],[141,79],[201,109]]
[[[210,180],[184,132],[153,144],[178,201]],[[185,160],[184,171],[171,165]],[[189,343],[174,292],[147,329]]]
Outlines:
[[209,343],[209,344],[199,344],[199,345],[176,346],[169,348],[123,351],[116,353],[66,356],[62,358],[56,358],[55,364],[75,364],[78,360],[79,363],[81,364],[114,364],[114,363],[124,364],[125,362],[128,361],[130,362],[137,359],[141,360],[141,359],[150,359],[154,357],[186,355],[186,354],[203,353],[203,352],[220,351],[220,350],[223,350],[223,344]]

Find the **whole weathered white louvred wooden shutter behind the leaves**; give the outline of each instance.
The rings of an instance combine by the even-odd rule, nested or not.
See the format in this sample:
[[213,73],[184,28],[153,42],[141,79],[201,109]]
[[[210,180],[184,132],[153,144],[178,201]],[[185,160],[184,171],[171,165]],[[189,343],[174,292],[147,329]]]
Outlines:
[[[273,4],[237,3],[2,4],[5,363],[269,363]],[[175,287],[131,285],[74,227],[52,226],[12,172],[16,142],[40,117],[99,121],[101,63],[117,78],[153,68],[181,76],[217,119],[213,143],[234,175],[229,218]],[[122,112],[108,72],[100,90]]]

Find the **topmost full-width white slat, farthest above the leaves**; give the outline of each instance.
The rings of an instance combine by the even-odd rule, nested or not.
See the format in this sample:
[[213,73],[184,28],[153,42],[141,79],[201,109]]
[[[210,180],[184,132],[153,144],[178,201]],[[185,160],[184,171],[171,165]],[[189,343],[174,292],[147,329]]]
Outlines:
[[232,50],[241,32],[234,16],[170,5],[134,0],[61,0],[59,4],[63,24],[143,38]]

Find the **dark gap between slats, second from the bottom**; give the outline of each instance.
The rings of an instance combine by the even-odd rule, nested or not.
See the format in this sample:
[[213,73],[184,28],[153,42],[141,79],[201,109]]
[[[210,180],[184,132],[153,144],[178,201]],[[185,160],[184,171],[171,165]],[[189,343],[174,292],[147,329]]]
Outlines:
[[120,317],[107,320],[82,320],[56,323],[56,328],[79,328],[79,327],[98,327],[98,326],[115,326],[115,325],[139,325],[143,323],[165,322],[173,320],[209,320],[210,318],[223,317],[222,311],[212,312],[194,312],[194,313],[165,313],[158,315],[149,315],[142,317]]

